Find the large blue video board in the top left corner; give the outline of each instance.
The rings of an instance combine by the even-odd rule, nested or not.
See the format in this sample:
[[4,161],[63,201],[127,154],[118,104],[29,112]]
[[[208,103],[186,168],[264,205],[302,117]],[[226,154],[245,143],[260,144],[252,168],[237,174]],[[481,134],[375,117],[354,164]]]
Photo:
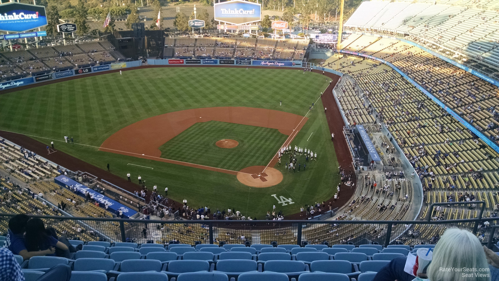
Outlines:
[[47,25],[45,7],[22,3],[0,4],[0,30],[26,31]]

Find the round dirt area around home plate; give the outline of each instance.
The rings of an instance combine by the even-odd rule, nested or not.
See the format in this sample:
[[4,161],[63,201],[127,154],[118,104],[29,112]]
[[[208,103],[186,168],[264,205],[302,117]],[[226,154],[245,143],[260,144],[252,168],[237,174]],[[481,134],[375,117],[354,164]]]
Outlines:
[[282,181],[282,173],[279,170],[267,167],[261,172],[264,168],[265,166],[246,167],[238,172],[238,180],[252,187],[268,187]]

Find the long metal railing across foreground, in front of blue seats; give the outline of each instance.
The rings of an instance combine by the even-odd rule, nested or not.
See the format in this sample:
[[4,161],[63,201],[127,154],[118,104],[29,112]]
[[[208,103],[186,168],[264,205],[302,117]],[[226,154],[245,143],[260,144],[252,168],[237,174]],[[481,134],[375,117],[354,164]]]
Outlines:
[[[15,214],[0,213],[0,233]],[[168,243],[270,244],[428,244],[436,243],[449,227],[474,232],[484,242],[496,237],[498,217],[456,220],[149,220],[29,215],[42,218],[59,235],[81,240],[110,242],[148,240]],[[475,227],[478,225],[479,227]],[[199,243],[198,242],[198,243]]]

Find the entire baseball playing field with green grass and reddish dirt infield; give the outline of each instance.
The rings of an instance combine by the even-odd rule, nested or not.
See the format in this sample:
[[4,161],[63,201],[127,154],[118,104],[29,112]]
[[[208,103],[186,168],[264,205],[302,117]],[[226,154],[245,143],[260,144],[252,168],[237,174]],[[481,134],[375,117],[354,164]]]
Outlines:
[[[286,215],[336,192],[338,160],[319,98],[328,85],[298,69],[127,70],[0,94],[0,129],[53,140],[55,153],[102,169],[109,163],[123,182],[129,172],[161,194],[168,186],[169,198],[191,207],[263,219],[273,204]],[[298,155],[300,171],[289,171],[289,154],[277,162],[283,143],[317,159]]]

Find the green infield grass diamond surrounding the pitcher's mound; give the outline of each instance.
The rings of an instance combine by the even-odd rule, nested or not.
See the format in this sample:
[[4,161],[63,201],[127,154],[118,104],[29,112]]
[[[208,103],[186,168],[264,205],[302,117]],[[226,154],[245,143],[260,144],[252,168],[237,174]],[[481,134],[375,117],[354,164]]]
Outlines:
[[[276,129],[220,121],[200,122],[160,146],[161,157],[229,170],[266,166],[288,136]],[[239,145],[215,143],[234,139]]]

